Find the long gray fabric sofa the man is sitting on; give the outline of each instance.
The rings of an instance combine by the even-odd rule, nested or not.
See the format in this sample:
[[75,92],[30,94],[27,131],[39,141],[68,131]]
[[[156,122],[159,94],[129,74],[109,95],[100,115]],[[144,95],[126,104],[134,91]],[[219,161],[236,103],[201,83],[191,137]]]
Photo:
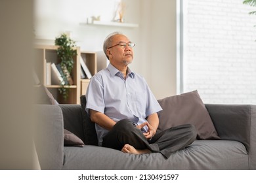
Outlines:
[[220,140],[197,140],[169,159],[94,145],[64,146],[64,129],[82,141],[81,105],[37,105],[35,145],[41,169],[256,169],[256,106],[205,105]]

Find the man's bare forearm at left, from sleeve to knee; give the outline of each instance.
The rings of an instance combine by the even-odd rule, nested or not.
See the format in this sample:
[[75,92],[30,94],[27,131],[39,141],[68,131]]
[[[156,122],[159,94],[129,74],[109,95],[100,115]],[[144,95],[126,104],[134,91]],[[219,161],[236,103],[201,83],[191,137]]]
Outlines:
[[114,120],[110,119],[105,114],[98,112],[96,110],[90,109],[90,114],[91,114],[91,121],[100,125],[104,129],[110,130],[116,124],[116,122],[114,122]]

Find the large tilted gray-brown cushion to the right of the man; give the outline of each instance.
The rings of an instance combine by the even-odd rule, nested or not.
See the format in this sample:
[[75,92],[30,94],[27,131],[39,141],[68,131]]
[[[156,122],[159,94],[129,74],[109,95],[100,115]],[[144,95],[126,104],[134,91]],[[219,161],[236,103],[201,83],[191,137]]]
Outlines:
[[198,139],[220,139],[198,91],[158,100],[163,110],[158,112],[159,131],[182,124],[193,124]]

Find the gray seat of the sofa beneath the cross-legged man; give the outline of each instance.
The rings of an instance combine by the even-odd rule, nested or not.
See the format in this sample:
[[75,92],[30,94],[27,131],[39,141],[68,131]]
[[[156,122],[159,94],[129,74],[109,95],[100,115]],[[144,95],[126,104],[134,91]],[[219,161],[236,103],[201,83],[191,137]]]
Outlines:
[[224,140],[194,141],[169,159],[87,145],[64,147],[62,169],[248,169],[248,155],[241,142]]

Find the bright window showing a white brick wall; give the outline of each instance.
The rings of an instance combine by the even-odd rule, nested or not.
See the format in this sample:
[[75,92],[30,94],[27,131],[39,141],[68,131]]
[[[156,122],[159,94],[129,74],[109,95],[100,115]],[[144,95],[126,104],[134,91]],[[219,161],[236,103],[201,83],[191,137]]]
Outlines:
[[256,103],[256,16],[241,0],[181,0],[181,92]]

